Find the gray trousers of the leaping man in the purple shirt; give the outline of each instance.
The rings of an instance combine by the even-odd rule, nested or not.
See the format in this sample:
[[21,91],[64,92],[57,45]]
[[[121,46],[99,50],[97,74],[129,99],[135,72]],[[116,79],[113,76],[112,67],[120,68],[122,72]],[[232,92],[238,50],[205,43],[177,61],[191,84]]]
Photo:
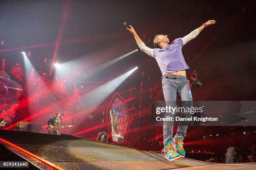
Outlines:
[[[181,100],[182,107],[193,107],[192,93],[189,86],[189,80],[187,79],[167,79],[162,80],[164,99],[166,106],[177,107],[176,98],[177,95]],[[166,112],[165,117],[174,117],[176,112]],[[180,117],[191,117],[189,112],[181,112]],[[164,121],[164,145],[173,138],[173,121]],[[176,135],[186,135],[189,122],[179,121],[179,126]]]

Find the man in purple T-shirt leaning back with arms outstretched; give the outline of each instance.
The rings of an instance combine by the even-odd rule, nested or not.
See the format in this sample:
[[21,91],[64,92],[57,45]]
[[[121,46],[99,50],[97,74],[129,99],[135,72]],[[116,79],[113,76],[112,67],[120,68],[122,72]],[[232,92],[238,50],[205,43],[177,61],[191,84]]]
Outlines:
[[[190,40],[193,40],[199,33],[209,25],[215,24],[215,20],[209,20],[202,26],[190,32],[182,38],[177,38],[170,43],[167,35],[156,35],[154,38],[154,49],[146,47],[134,28],[129,30],[143,52],[154,57],[162,73],[162,87],[164,99],[167,106],[176,107],[176,97],[182,101],[182,107],[192,107],[192,92],[189,80],[186,77],[186,70],[189,69],[182,55],[182,47]],[[165,117],[174,117],[175,113],[166,112]],[[182,112],[181,117],[191,117],[189,112]],[[179,122],[176,135],[173,137],[173,121],[164,121],[164,155],[172,161],[185,156],[183,139],[187,134],[189,122]]]

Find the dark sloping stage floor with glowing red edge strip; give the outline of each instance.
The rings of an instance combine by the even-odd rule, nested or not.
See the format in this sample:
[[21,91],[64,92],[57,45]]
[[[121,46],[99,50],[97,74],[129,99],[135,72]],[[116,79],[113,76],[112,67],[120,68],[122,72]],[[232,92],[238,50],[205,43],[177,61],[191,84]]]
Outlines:
[[65,170],[256,169],[255,163],[211,164],[187,158],[170,162],[160,153],[101,143],[71,135],[11,130],[0,130],[0,151],[2,160],[28,160],[30,169],[43,170],[61,168]]

